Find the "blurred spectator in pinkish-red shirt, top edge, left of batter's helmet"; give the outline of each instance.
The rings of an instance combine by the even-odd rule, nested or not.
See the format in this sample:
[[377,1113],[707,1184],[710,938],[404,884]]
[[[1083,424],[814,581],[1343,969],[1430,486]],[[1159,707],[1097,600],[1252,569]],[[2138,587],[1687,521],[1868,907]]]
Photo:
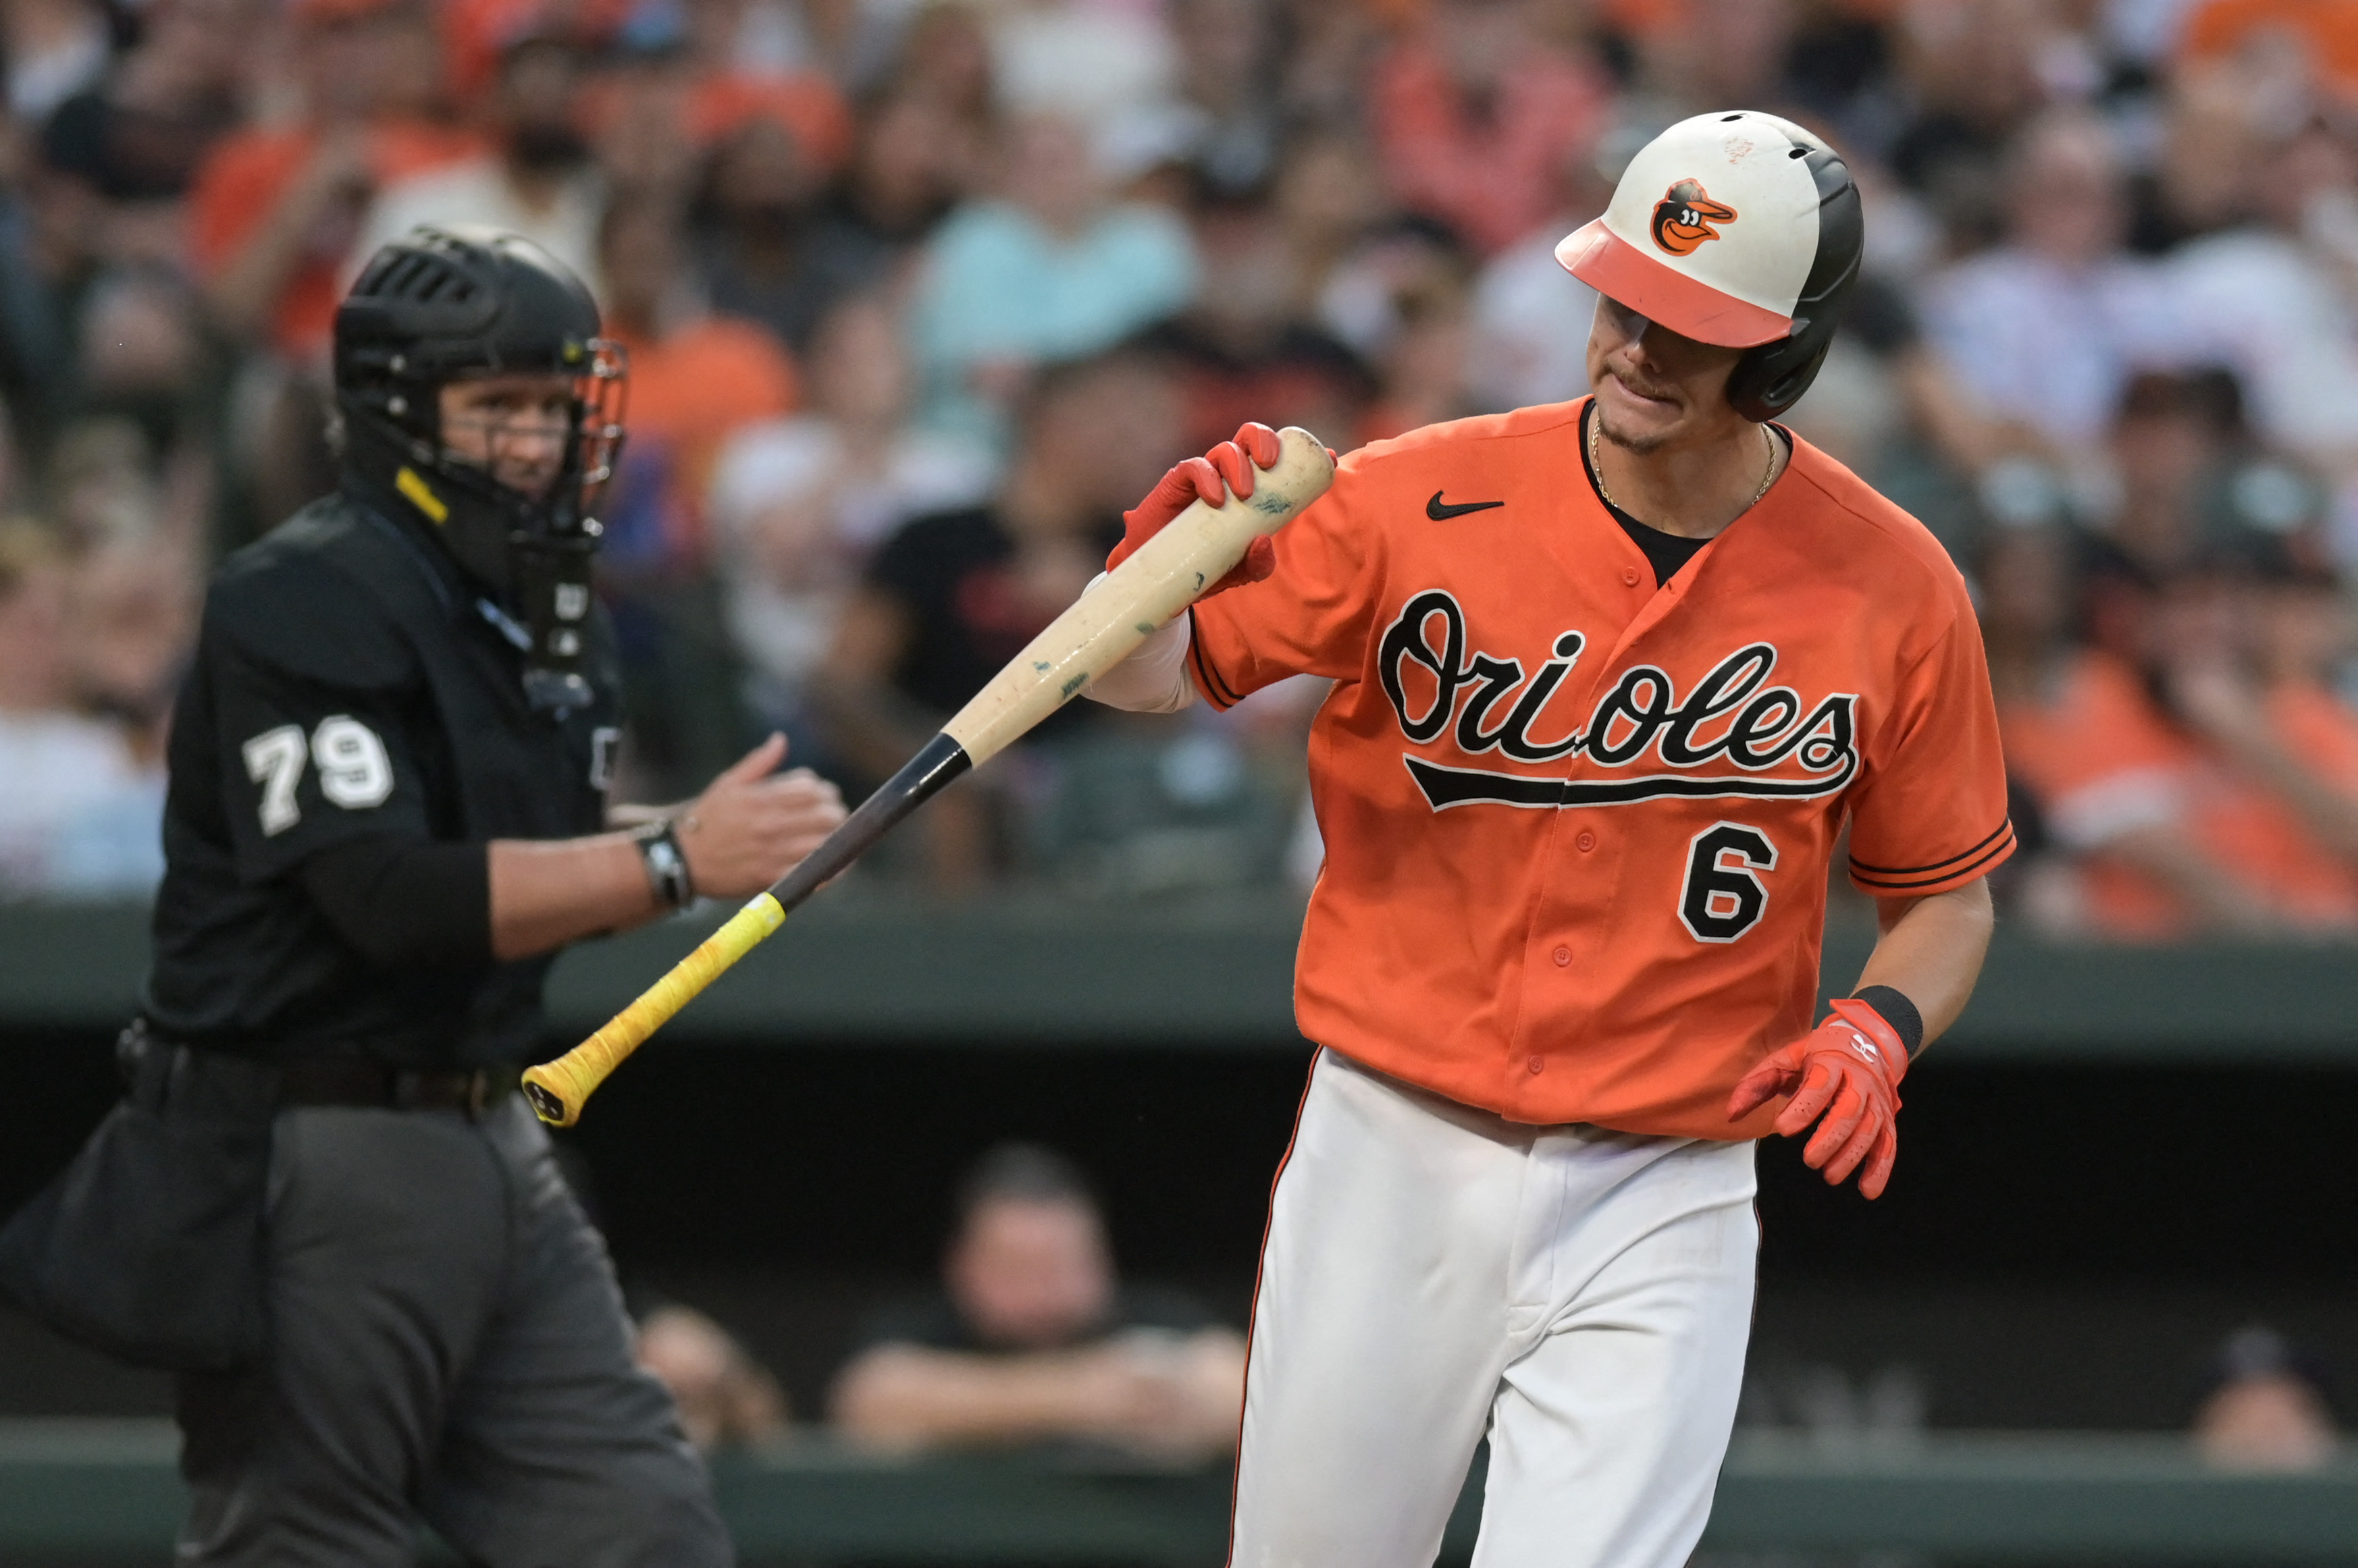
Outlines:
[[1509,0],[1434,0],[1368,83],[1384,177],[1412,212],[1500,250],[1556,212],[1568,146],[1606,125],[1606,85]]

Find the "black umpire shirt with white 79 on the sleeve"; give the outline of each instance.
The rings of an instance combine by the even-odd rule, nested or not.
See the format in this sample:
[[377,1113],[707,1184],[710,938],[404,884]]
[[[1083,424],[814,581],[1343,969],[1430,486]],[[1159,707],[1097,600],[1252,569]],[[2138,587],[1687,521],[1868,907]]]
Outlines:
[[[587,710],[533,712],[512,622],[406,502],[375,502],[349,474],[344,486],[229,556],[205,597],[172,722],[144,1012],[158,1035],[274,1059],[531,1061],[554,955],[490,957],[474,856],[490,839],[599,832],[613,641],[594,620]],[[340,929],[304,887],[314,856],[363,842],[465,865],[460,887],[483,891],[457,924],[479,931],[432,960],[363,950],[351,908]],[[415,920],[396,903],[358,908]]]

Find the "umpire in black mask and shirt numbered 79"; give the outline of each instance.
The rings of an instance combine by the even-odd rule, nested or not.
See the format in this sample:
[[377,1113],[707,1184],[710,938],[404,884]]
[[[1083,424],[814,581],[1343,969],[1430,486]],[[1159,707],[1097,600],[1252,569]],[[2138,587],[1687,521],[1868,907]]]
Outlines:
[[568,941],[747,896],[842,804],[771,738],[604,830],[623,387],[547,252],[417,229],[337,311],[337,490],[212,580],[130,1054],[274,1108],[266,1330],[179,1379],[182,1563],[408,1563],[420,1518],[493,1568],[731,1559],[516,1066]]

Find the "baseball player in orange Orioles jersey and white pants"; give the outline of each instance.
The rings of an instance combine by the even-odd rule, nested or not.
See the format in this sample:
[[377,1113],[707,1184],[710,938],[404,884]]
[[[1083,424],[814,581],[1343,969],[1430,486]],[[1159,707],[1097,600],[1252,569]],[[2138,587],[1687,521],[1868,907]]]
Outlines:
[[[1948,556],[1773,415],[1818,370],[1858,191],[1764,113],[1662,132],[1556,248],[1594,396],[1342,460],[1094,689],[1335,681],[1231,1561],[1431,1563],[1490,1438],[1483,1568],[1677,1568],[1743,1377],[1752,1139],[1884,1191],[1898,1085],[1964,1007],[2011,849]],[[1127,516],[1250,493],[1245,427]],[[1830,858],[1877,898],[1811,1028]]]

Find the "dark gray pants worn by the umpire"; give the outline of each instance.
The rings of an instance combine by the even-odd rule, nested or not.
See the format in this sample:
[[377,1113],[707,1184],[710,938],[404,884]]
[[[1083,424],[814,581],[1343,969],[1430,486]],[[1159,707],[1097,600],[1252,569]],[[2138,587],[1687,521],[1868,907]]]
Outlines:
[[724,1568],[703,1462],[521,1099],[281,1111],[271,1344],[184,1375],[182,1563]]

